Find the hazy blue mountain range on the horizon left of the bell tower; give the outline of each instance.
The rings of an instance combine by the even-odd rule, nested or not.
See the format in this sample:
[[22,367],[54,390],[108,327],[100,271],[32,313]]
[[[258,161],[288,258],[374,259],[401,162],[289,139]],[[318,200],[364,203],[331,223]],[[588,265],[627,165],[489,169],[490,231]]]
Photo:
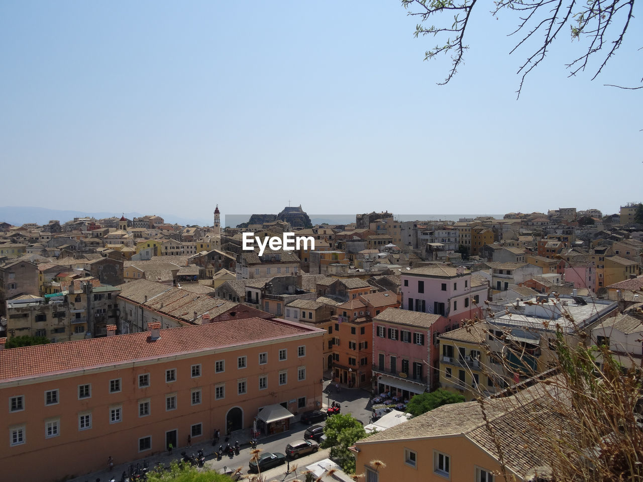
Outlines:
[[[169,224],[198,224],[203,226],[203,220],[187,219],[173,215],[165,215],[163,213],[153,213],[162,217],[165,222]],[[103,213],[86,213],[84,211],[64,211],[64,210],[50,210],[47,208],[32,208],[26,206],[3,206],[0,207],[0,222],[8,222],[14,226],[22,226],[26,222],[35,222],[37,224],[47,224],[51,219],[59,220],[60,223],[70,221],[74,218],[95,217],[96,219],[121,217],[123,213],[103,212]],[[141,213],[125,213],[125,217],[132,219],[134,217],[143,216]]]

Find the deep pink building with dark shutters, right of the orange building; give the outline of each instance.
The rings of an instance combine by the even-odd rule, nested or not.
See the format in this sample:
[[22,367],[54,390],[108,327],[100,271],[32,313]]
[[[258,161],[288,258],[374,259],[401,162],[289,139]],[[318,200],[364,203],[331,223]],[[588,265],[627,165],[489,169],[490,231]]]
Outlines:
[[386,308],[373,320],[373,379],[377,393],[403,398],[435,388],[439,343],[447,319],[435,314]]

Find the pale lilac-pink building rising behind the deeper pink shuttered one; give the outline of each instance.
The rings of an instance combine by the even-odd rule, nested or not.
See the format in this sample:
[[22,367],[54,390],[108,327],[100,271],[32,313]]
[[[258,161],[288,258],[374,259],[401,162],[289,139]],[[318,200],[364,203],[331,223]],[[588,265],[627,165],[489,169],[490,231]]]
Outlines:
[[402,273],[402,307],[444,316],[459,328],[462,319],[482,318],[487,281],[464,267],[422,266]]

